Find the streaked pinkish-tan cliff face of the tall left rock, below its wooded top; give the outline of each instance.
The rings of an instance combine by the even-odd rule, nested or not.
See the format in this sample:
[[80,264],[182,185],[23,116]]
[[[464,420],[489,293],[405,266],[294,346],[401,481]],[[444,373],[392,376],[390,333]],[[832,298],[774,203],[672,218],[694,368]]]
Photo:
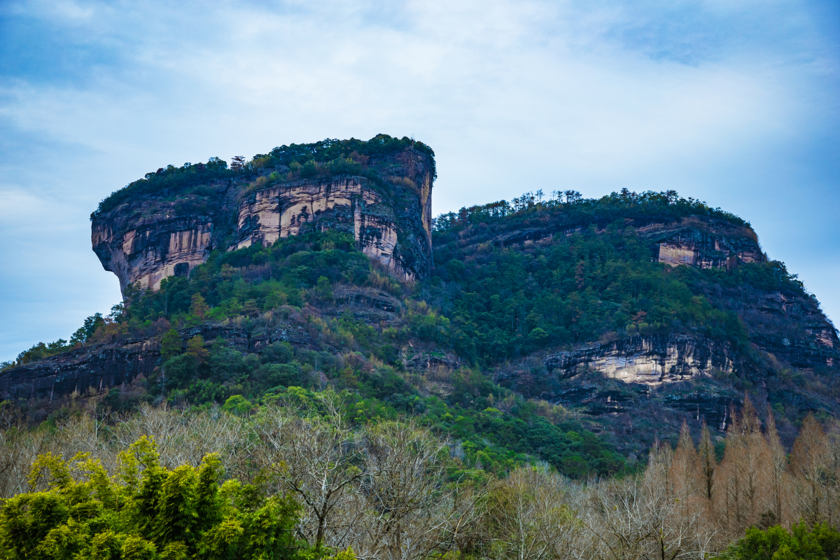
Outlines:
[[[158,290],[189,275],[211,250],[324,229],[352,233],[359,247],[403,280],[432,268],[433,160],[413,149],[370,158],[362,175],[269,181],[288,168],[192,185],[160,196],[129,196],[92,221],[92,245],[105,270],[129,285]],[[260,186],[265,185],[265,188]]]

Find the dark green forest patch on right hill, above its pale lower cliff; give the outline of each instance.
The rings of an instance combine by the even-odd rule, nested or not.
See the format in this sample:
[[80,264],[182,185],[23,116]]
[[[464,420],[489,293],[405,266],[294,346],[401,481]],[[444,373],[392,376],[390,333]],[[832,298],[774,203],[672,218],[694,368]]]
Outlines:
[[438,265],[420,296],[442,313],[412,317],[412,334],[448,343],[480,364],[611,332],[687,331],[746,340],[737,315],[711,306],[680,272],[653,262],[651,254],[635,228],[622,222],[544,246],[493,247],[479,254],[454,241],[438,243]]

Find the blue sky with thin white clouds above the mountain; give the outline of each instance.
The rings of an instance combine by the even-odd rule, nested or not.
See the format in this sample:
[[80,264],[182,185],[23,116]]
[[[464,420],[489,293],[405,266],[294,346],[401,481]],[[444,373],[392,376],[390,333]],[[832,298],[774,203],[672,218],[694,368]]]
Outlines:
[[412,136],[435,214],[674,189],[840,321],[840,3],[0,2],[0,361],[120,301],[89,215],[165,165]]

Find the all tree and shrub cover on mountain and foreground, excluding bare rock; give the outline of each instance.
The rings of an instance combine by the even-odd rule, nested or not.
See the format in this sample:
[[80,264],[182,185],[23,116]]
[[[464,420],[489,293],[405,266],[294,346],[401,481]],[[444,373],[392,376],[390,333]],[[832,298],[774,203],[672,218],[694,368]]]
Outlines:
[[[408,141],[292,145],[248,165],[288,167],[266,181],[355,173]],[[159,170],[97,212],[241,172],[223,164]],[[643,228],[706,227],[698,217],[757,239],[673,191],[538,191],[437,217],[422,280],[396,280],[326,230],[214,250],[157,291],[129,286],[69,341],[3,364],[160,347],[131,383],[0,404],[0,557],[836,558],[840,428],[784,395],[837,388],[761,351],[754,340],[785,327],[739,307],[758,290],[815,300],[777,261],[658,262]],[[675,385],[726,395],[722,427],[699,408],[663,416],[673,395],[592,372],[569,386],[647,402],[633,437],[617,429],[627,414],[541,396],[559,381],[534,357],[675,334],[738,356],[730,373]],[[511,382],[512,368],[528,370]]]

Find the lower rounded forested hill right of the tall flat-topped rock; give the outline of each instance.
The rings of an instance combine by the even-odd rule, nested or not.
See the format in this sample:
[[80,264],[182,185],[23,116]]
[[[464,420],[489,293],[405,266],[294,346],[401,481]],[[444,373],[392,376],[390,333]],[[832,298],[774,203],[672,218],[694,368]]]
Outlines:
[[675,193],[569,194],[436,222],[422,297],[499,383],[644,445],[686,417],[725,430],[745,392],[790,421],[840,411],[837,331],[747,222]]

